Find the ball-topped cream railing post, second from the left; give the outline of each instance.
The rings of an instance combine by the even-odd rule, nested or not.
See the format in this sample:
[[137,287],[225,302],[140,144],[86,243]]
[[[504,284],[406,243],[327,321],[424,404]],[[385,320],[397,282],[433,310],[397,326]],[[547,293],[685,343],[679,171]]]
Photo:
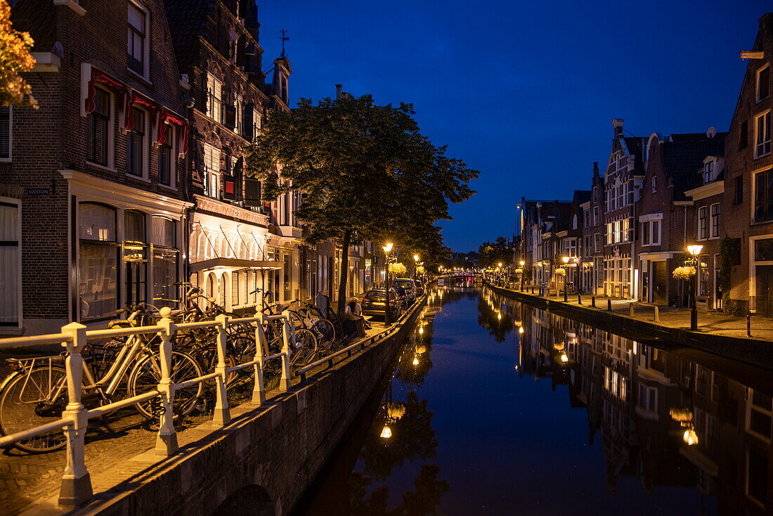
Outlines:
[[172,338],[177,330],[175,322],[169,317],[172,309],[164,306],[161,310],[162,320],[158,326],[163,330],[158,332],[161,344],[158,346],[158,361],[161,362],[161,379],[158,381],[158,392],[161,393],[162,412],[158,420],[158,435],[155,438],[155,453],[157,455],[172,455],[177,445],[177,430],[175,430],[175,384],[172,382]]

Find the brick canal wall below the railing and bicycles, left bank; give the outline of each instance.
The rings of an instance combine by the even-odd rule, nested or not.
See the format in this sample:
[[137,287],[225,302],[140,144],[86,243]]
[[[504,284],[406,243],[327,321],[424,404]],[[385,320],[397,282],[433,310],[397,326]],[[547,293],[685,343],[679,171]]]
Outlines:
[[[175,456],[159,457],[151,450],[128,458],[124,469],[111,472],[124,480],[97,492],[94,501],[72,514],[289,514],[389,367],[425,302],[426,296],[418,299],[393,333],[375,341],[368,337],[362,350],[332,367],[309,371],[303,382],[294,378],[289,391],[270,393],[264,405],[232,408],[226,427],[180,432],[181,439],[197,438],[181,443]],[[100,479],[93,480],[96,487]]]

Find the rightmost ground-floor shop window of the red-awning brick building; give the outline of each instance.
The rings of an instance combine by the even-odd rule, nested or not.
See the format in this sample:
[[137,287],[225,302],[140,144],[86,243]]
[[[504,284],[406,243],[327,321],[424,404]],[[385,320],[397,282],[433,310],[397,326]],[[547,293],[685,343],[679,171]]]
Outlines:
[[177,250],[176,224],[174,220],[153,217],[153,299],[155,306],[175,306],[177,299]]

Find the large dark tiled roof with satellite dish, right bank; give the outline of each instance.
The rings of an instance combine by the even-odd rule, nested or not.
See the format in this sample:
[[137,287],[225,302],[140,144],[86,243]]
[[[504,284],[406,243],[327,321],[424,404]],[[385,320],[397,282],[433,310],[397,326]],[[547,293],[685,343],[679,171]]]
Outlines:
[[686,190],[703,184],[700,167],[706,156],[724,155],[726,132],[718,132],[713,138],[706,133],[671,135],[663,142],[663,169],[673,181],[674,200],[685,200]]

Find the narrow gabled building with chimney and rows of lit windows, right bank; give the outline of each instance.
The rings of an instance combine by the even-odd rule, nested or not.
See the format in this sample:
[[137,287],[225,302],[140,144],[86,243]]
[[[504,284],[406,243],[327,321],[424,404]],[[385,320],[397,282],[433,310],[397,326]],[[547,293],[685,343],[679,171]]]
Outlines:
[[623,135],[623,121],[612,121],[615,134],[604,173],[604,295],[637,296],[635,274],[635,203],[642,187],[645,138]]

